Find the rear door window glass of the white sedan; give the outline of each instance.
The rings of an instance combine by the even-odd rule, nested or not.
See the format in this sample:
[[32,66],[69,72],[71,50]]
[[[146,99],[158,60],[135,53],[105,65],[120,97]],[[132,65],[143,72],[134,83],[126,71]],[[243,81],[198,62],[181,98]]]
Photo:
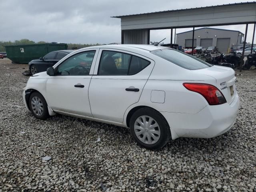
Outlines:
[[131,54],[102,51],[98,75],[134,75],[149,64],[149,61]]

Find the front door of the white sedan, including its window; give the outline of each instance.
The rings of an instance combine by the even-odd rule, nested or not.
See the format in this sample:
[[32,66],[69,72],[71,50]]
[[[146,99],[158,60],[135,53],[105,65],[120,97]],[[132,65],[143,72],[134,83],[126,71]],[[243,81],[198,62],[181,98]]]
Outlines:
[[92,117],[88,88],[99,49],[72,54],[54,67],[46,82],[48,105],[56,112]]

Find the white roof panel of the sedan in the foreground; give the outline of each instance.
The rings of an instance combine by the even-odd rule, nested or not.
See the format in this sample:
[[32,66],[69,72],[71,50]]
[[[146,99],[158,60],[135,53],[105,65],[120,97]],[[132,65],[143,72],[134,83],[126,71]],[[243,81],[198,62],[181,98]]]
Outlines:
[[147,51],[153,51],[157,49],[164,49],[166,47],[164,46],[154,46],[154,45],[136,45],[136,44],[111,44],[111,45],[98,45],[98,46],[91,46],[91,47],[86,47],[82,48],[83,49],[88,49],[88,48],[112,48],[112,49],[123,49],[123,48],[132,48],[132,49],[139,49],[139,50],[147,50]]

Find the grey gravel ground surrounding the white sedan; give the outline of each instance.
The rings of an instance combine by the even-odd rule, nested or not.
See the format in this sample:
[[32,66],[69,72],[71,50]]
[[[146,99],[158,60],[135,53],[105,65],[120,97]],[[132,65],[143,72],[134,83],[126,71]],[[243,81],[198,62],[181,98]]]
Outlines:
[[27,69],[0,60],[0,192],[255,192],[256,70],[237,76],[241,104],[230,131],[150,151],[126,128],[63,115],[37,120],[22,101]]

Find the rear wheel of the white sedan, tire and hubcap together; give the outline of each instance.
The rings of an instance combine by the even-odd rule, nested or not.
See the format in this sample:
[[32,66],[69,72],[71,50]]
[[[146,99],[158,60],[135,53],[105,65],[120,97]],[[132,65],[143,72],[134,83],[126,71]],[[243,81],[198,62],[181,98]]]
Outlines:
[[149,150],[164,147],[171,138],[170,127],[166,119],[158,111],[148,107],[134,112],[130,119],[130,131],[134,140]]

